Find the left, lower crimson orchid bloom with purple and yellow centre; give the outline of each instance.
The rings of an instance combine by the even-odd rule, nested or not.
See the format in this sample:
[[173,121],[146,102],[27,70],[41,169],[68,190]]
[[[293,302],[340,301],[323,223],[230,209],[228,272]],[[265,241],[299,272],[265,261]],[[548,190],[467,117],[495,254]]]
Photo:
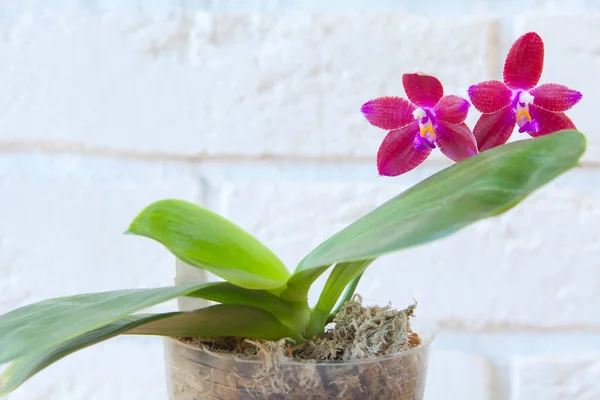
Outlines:
[[477,154],[477,142],[464,123],[470,104],[458,96],[444,96],[440,81],[430,75],[404,74],[402,84],[410,101],[381,97],[361,111],[372,125],[389,130],[377,154],[380,175],[397,176],[421,164],[440,147],[458,162]]

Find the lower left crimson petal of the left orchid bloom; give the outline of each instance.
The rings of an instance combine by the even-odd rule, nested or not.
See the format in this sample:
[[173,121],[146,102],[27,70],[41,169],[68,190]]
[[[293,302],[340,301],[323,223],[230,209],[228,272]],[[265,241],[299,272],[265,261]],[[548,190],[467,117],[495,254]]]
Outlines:
[[377,153],[377,169],[380,175],[397,176],[425,161],[431,149],[415,149],[414,138],[418,132],[419,123],[414,121],[387,134]]

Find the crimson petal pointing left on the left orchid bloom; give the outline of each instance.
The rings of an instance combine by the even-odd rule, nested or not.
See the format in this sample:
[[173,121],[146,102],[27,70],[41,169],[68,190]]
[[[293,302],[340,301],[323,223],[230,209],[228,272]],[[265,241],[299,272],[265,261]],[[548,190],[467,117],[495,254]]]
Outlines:
[[414,121],[416,107],[400,97],[380,97],[366,102],[360,108],[367,121],[378,128],[398,129]]

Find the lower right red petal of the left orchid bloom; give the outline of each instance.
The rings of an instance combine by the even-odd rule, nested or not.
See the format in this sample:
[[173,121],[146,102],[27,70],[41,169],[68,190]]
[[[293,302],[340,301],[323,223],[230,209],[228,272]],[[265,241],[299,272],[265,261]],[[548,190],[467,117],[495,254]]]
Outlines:
[[477,141],[469,127],[462,124],[438,124],[436,143],[452,161],[462,161],[478,153]]

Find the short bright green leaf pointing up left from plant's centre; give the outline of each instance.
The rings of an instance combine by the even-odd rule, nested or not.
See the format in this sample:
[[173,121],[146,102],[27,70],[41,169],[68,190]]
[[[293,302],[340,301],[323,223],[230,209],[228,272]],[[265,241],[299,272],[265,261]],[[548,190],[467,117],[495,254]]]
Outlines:
[[281,260],[254,236],[187,201],[150,204],[127,233],[154,239],[183,262],[246,289],[278,288],[290,276]]

